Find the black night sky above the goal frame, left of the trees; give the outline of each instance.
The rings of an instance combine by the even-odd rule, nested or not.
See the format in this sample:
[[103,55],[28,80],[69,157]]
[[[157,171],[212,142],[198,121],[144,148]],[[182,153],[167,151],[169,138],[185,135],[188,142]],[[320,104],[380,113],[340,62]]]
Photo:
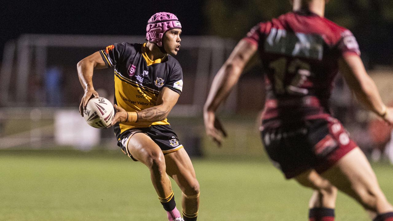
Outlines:
[[144,35],[154,13],[177,15],[184,35],[204,34],[202,1],[2,0],[0,58],[4,44],[23,33]]

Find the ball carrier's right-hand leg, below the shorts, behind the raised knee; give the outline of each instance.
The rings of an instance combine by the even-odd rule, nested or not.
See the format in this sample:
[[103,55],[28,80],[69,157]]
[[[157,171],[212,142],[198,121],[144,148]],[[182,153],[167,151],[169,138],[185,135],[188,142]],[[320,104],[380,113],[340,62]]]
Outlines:
[[182,190],[182,207],[184,221],[195,221],[199,207],[199,183],[195,177],[194,167],[184,148],[165,155],[167,174],[171,176]]

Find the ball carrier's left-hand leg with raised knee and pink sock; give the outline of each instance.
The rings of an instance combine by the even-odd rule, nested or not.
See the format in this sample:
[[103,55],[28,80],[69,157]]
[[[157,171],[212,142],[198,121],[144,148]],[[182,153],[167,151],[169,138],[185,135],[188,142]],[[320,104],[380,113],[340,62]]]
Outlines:
[[171,180],[166,173],[165,158],[160,147],[144,133],[133,134],[129,138],[127,147],[133,158],[149,168],[151,181],[158,199],[167,211],[168,219],[173,221],[181,217],[176,208]]

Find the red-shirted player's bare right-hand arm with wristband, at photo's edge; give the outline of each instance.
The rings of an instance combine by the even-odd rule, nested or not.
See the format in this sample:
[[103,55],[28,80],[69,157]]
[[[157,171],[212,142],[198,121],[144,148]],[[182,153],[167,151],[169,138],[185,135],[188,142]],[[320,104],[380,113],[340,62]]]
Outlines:
[[387,108],[373,79],[368,76],[363,62],[357,55],[347,55],[339,61],[340,71],[356,97],[367,109],[373,111],[387,123],[393,124],[393,109]]

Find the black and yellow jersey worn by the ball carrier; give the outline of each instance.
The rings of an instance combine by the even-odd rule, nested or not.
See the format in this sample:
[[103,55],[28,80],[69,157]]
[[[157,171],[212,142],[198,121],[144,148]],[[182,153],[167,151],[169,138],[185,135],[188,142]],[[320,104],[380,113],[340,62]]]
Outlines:
[[[160,90],[168,87],[182,92],[182,67],[171,55],[152,61],[146,54],[146,43],[116,43],[101,50],[108,67],[114,67],[114,103],[132,112],[156,106]],[[120,123],[114,127],[116,137],[132,128],[169,125],[168,120],[153,123]]]

